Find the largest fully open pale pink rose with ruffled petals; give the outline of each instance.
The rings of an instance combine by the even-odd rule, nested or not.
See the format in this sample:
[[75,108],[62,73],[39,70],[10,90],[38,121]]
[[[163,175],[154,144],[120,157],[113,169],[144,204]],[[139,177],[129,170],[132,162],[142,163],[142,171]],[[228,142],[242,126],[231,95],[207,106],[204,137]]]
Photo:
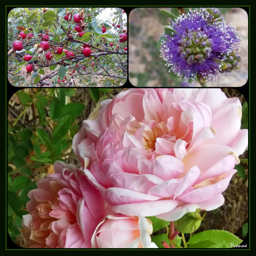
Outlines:
[[73,149],[113,211],[173,221],[224,203],[248,144],[241,109],[220,89],[128,89],[101,102]]

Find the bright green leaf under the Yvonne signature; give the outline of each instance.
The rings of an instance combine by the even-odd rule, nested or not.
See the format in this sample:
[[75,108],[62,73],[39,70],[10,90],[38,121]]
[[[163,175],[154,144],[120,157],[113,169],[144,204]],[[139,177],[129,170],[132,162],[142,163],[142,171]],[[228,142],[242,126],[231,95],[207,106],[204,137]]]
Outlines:
[[207,230],[191,236],[188,244],[191,246],[206,240],[215,243],[216,248],[231,248],[232,244],[239,245],[243,242],[240,238],[226,230]]

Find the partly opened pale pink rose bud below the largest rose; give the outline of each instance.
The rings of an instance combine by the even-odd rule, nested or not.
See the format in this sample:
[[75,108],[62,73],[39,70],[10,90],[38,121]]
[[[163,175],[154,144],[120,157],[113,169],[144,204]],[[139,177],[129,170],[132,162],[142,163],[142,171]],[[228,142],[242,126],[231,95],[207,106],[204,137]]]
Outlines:
[[93,248],[158,248],[151,242],[152,222],[145,217],[108,215],[92,235]]

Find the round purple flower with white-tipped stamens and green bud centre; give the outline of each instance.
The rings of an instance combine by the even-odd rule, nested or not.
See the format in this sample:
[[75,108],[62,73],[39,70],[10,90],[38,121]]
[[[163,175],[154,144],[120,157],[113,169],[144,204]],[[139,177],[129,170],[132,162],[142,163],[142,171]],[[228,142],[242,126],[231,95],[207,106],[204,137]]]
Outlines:
[[[171,21],[169,28],[173,33],[164,34],[161,54],[169,72],[183,76],[185,81],[196,76],[211,81],[223,69],[230,72],[237,66],[240,59],[229,62],[229,57],[237,54],[241,38],[235,26],[222,20],[217,9],[200,8],[182,14]],[[227,62],[222,60],[224,55]]]

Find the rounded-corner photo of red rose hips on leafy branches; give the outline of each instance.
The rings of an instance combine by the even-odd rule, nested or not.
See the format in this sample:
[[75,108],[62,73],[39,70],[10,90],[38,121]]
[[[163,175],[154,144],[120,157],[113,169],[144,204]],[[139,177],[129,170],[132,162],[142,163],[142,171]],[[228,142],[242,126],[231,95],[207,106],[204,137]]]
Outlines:
[[126,82],[123,9],[23,7],[10,10],[7,19],[7,75],[13,86],[118,87]]

